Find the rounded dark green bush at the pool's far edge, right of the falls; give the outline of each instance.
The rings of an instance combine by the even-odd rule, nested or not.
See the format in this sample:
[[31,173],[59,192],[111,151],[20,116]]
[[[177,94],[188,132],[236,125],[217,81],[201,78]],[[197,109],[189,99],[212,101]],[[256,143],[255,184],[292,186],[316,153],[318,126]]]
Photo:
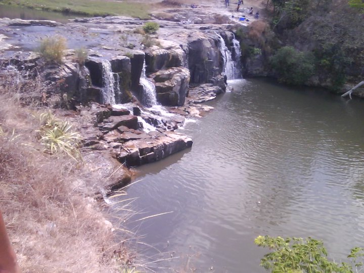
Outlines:
[[283,47],[271,58],[271,66],[278,80],[288,84],[303,84],[314,73],[314,56]]

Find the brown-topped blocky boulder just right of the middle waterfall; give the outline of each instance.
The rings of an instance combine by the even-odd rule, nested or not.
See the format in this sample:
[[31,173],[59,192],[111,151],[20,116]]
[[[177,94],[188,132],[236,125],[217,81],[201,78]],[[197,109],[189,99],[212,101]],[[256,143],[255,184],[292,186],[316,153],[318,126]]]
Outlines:
[[181,106],[185,104],[190,82],[190,71],[184,67],[160,70],[150,75],[156,82],[157,101],[162,105]]

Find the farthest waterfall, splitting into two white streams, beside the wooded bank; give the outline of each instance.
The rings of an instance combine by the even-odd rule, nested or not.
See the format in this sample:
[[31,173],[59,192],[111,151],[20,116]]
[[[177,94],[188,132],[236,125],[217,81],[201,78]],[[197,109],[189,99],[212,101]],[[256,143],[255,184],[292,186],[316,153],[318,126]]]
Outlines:
[[235,39],[235,36],[233,38],[233,45],[234,45],[234,56],[232,55],[232,52],[226,47],[224,39],[221,37],[220,34],[216,33],[216,35],[219,37],[219,49],[223,58],[223,73],[228,77],[228,80],[230,79],[237,79],[240,78],[240,44],[237,39]]

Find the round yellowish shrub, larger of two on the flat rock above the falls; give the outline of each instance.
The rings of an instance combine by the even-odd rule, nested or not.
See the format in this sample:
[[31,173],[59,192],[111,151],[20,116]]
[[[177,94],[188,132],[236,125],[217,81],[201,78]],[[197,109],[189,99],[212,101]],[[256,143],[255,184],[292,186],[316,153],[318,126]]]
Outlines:
[[66,38],[54,35],[41,40],[39,53],[48,63],[62,63],[62,57],[66,50]]

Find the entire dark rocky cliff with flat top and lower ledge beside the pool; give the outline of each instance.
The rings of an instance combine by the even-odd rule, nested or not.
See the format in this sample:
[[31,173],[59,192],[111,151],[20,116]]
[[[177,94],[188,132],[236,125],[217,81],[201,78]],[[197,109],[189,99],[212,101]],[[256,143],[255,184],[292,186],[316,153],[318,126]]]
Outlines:
[[[22,40],[14,34],[14,23],[21,28],[17,32],[23,33]],[[135,33],[142,23],[119,17],[84,19],[66,25],[0,19],[8,35],[7,46],[24,51],[0,53],[2,67],[16,67],[28,79],[39,78],[48,86],[47,95],[36,95],[44,103],[59,94],[81,117],[90,120],[81,130],[84,150],[108,151],[128,166],[157,161],[192,146],[190,138],[173,131],[183,125],[184,116],[200,116],[211,109],[195,104],[225,92],[225,59],[217,33],[229,48],[233,34],[220,25],[186,26],[160,21],[158,35],[150,36],[157,45],[146,47],[145,37]],[[29,26],[31,32],[27,31]],[[67,51],[61,65],[45,64],[31,53],[39,37],[55,31],[67,37],[71,47],[77,44],[89,49],[84,65],[77,63],[73,49]],[[159,104],[174,107],[169,109],[173,115],[148,110],[138,102],[145,92],[141,77],[155,85]],[[125,106],[128,109],[102,105],[114,103],[129,103]]]

